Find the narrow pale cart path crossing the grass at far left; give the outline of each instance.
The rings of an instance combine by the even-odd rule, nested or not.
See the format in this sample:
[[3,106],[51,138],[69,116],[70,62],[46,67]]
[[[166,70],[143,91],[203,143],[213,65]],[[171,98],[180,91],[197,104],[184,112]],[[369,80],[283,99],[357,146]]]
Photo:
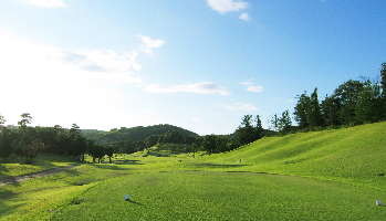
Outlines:
[[59,172],[77,167],[80,165],[81,164],[74,164],[74,165],[70,165],[66,167],[59,167],[59,168],[43,170],[40,172],[32,172],[32,173],[22,175],[22,176],[2,178],[2,179],[0,179],[0,188],[6,186],[6,185],[14,185],[14,183],[19,183],[19,182],[22,182],[22,181],[25,181],[25,180],[29,180],[32,178],[36,178],[36,177],[45,177],[45,176],[50,176],[50,175],[56,175]]

